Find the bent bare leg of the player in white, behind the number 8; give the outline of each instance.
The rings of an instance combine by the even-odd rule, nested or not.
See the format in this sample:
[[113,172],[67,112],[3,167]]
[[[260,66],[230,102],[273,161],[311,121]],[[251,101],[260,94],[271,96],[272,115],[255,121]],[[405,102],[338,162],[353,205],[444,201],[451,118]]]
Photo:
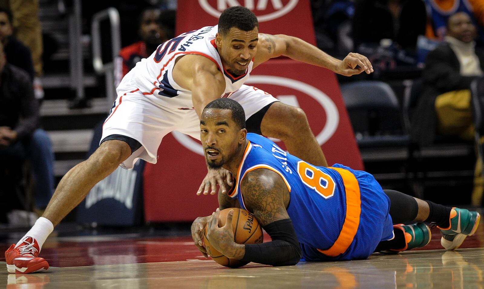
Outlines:
[[262,118],[260,131],[282,140],[290,154],[316,166],[328,166],[302,109],[275,102]]

